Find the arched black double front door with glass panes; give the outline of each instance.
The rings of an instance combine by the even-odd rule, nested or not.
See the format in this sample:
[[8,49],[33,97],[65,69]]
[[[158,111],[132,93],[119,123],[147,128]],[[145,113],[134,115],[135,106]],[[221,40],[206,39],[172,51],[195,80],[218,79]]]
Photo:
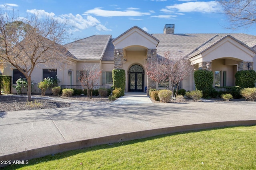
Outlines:
[[144,88],[144,70],[142,66],[134,64],[129,72],[129,92],[143,92]]

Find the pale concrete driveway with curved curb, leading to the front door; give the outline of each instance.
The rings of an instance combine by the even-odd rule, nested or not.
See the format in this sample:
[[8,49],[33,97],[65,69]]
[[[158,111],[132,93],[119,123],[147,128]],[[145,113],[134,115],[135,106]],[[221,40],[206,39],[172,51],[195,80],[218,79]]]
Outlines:
[[152,104],[143,95],[126,94],[116,102],[64,100],[71,106],[0,112],[0,160],[28,160],[177,131],[256,125],[256,102]]

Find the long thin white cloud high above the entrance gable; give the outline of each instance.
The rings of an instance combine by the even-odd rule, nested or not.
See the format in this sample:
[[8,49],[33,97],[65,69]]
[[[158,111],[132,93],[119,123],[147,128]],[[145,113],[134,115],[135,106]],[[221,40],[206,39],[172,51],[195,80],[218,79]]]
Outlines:
[[110,11],[110,10],[102,10],[101,8],[94,8],[93,10],[88,10],[84,12],[84,15],[88,15],[88,14],[94,14],[96,16],[102,16],[102,17],[150,15],[149,12],[138,12],[134,10]]

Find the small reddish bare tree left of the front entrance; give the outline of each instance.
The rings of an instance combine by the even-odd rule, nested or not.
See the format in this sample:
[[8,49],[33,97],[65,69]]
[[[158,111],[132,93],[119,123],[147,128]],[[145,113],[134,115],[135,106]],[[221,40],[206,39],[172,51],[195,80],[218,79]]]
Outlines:
[[88,98],[92,98],[92,90],[96,84],[97,80],[102,73],[102,70],[99,69],[100,66],[95,64],[93,66],[84,66],[83,70],[80,70],[80,83],[84,89],[87,89]]

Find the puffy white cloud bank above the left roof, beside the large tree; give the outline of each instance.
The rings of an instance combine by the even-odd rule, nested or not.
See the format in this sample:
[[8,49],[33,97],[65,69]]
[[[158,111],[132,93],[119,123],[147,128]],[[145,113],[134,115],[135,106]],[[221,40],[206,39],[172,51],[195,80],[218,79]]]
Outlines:
[[81,16],[80,14],[62,14],[60,16],[55,16],[54,13],[48,13],[44,10],[27,10],[28,13],[38,15],[38,17],[52,17],[56,20],[65,21],[67,20],[67,24],[72,27],[72,31],[80,31],[82,29],[87,29],[90,27],[96,27],[99,31],[112,31],[111,29],[106,28],[104,25],[100,23],[96,18],[88,15],[86,18]]

